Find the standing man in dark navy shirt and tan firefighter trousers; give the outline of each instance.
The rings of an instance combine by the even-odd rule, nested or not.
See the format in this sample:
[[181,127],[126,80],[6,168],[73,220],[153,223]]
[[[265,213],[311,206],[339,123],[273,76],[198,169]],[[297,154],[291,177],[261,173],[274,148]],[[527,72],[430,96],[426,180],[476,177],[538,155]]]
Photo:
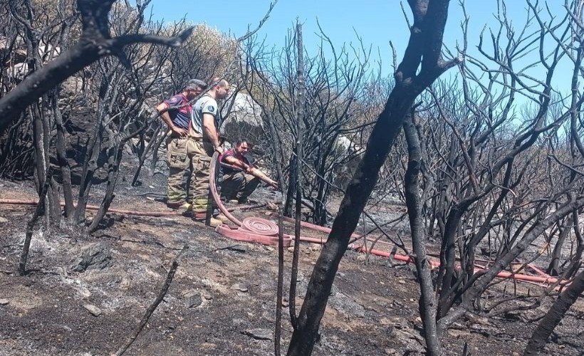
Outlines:
[[189,80],[182,93],[174,95],[156,107],[158,112],[162,112],[160,117],[170,130],[166,142],[169,169],[167,206],[173,209],[178,209],[182,205],[188,207],[192,201],[192,189],[187,189],[184,182],[184,170],[189,169],[189,175],[192,175],[194,169],[190,157],[192,155],[187,152],[192,112],[189,101],[197,98],[197,95],[206,88],[207,83],[202,80]]

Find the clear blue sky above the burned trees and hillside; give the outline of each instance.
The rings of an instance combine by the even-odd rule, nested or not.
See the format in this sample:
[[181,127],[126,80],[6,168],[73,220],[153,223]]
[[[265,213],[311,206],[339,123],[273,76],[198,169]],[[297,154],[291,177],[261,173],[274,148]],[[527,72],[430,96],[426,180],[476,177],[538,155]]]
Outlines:
[[[179,2],[180,6],[176,4],[169,6],[169,1],[152,0],[154,18],[176,21],[186,14],[188,21],[207,23],[219,31],[233,33],[234,36],[243,35],[248,26],[255,28],[270,4],[269,0],[224,0],[209,1],[207,4],[200,0],[176,2]],[[520,29],[526,20],[525,0],[506,2],[509,19]],[[561,9],[563,0],[548,2],[551,11],[558,15],[563,14]],[[407,1],[404,0],[402,3],[407,16],[411,18]],[[466,0],[466,10],[471,23],[469,46],[476,47],[482,28],[495,24],[493,14],[496,12],[496,0]],[[259,36],[265,38],[268,45],[281,46],[288,29],[295,26],[297,18],[303,23],[303,38],[309,55],[316,54],[320,44],[320,38],[316,35],[317,18],[336,47],[340,48],[343,43],[358,43],[358,34],[363,38],[365,46],[372,46],[374,53],[379,51],[385,74],[391,73],[390,41],[397,50],[398,62],[407,46],[409,31],[400,1],[397,0],[279,0],[270,19],[259,31]],[[459,1],[452,0],[444,36],[445,45],[452,50],[457,41],[459,43],[462,41],[461,20],[462,10]],[[471,48],[469,53],[473,51]]]

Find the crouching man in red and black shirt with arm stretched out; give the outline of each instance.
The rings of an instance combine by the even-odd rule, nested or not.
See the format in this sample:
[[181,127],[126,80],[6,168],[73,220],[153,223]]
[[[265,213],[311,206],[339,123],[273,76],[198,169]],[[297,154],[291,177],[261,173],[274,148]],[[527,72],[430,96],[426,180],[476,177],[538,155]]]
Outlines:
[[240,140],[231,150],[221,155],[223,181],[221,182],[221,199],[235,200],[240,204],[247,202],[251,193],[256,190],[260,180],[278,189],[278,183],[266,176],[264,172],[249,162],[246,154],[249,152],[249,142]]

